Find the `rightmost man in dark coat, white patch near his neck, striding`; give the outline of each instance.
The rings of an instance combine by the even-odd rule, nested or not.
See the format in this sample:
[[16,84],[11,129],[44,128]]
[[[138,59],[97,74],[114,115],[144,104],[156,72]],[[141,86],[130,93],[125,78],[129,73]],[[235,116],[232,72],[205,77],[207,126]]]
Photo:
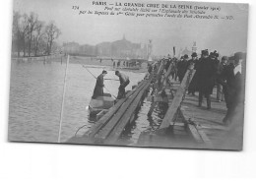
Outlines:
[[228,125],[236,106],[243,102],[243,70],[242,63],[243,58],[241,53],[234,54],[234,64],[229,64],[224,68],[222,73],[222,85],[224,87],[224,99],[227,107],[227,111],[224,117],[224,124]]

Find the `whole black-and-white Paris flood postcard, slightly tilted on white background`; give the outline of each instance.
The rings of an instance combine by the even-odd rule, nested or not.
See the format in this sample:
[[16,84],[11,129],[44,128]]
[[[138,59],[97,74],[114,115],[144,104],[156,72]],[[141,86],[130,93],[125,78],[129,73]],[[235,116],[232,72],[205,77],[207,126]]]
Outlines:
[[8,140],[242,151],[248,13],[14,0]]

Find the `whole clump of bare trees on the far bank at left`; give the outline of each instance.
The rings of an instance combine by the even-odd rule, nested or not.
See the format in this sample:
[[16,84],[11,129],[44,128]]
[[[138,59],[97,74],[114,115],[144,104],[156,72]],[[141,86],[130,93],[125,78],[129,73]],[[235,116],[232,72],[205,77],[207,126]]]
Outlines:
[[[48,55],[52,52],[54,40],[61,34],[54,22],[50,22],[46,27],[38,20],[38,15],[31,13],[21,15],[20,12],[13,14],[13,50],[18,52],[18,57],[23,50],[23,55],[29,56],[38,54],[44,49]],[[54,46],[55,47],[55,46]]]

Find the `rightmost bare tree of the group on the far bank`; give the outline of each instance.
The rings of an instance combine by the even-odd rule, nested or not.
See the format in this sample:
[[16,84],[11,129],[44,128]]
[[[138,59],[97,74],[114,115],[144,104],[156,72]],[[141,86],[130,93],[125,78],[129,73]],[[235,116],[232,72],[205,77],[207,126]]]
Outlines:
[[52,44],[53,40],[58,38],[58,36],[61,34],[61,31],[56,27],[54,22],[50,22],[48,26],[45,28],[45,35],[47,38],[47,54],[50,55],[52,51]]

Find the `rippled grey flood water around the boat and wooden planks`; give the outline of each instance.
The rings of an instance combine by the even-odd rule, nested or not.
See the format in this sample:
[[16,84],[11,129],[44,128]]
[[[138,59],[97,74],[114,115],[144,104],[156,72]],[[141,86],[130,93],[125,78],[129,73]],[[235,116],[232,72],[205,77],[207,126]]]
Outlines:
[[[8,132],[10,141],[58,141],[65,68],[66,64],[60,62],[12,62]],[[103,68],[89,70],[98,76]],[[108,74],[105,78],[117,79],[111,69],[106,70]],[[145,76],[144,73],[125,74],[131,81],[126,90],[131,90]],[[83,135],[95,124],[96,120],[89,117],[87,110],[95,85],[96,79],[81,64],[69,64],[61,142],[73,137],[78,128],[84,126],[78,133]],[[105,81],[104,85],[110,93],[117,94],[119,82]],[[142,131],[154,130],[159,126],[160,110],[148,117],[150,105],[151,102],[144,101],[135,123],[123,134],[122,139],[127,144],[136,143]]]

